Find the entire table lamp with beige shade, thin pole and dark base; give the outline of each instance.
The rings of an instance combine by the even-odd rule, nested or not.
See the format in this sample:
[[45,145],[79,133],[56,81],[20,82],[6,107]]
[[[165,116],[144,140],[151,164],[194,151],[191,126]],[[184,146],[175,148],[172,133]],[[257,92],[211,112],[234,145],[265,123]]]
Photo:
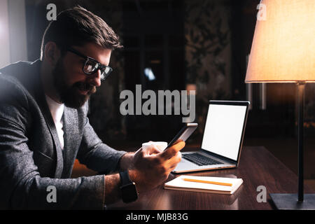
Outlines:
[[262,0],[245,83],[296,83],[298,101],[298,193],[270,194],[277,209],[315,209],[303,190],[304,87],[315,82],[315,1]]

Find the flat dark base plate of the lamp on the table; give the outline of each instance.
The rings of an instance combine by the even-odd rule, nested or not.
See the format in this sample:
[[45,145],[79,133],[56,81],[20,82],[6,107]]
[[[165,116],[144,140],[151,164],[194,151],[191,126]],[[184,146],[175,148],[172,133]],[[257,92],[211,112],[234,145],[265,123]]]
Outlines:
[[315,210],[315,194],[304,194],[303,202],[297,201],[297,194],[269,194],[276,209]]

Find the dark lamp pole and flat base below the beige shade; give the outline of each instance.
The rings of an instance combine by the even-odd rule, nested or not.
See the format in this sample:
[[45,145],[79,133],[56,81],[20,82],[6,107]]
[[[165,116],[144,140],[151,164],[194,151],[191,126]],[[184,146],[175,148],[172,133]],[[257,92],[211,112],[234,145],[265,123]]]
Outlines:
[[305,83],[297,83],[298,104],[298,192],[297,194],[270,194],[277,209],[315,210],[315,194],[304,194],[304,90]]

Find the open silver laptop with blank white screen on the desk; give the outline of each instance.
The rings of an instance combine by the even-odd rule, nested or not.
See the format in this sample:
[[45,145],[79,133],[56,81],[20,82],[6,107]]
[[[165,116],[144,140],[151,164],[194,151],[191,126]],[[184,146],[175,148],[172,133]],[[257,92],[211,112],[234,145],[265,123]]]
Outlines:
[[202,145],[182,152],[174,173],[235,168],[239,164],[248,116],[248,101],[210,100]]

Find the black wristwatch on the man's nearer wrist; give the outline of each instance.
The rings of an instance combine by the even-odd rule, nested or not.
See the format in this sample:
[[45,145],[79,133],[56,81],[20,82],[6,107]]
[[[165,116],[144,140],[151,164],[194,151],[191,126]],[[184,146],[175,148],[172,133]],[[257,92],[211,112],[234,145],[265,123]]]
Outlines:
[[121,181],[121,195],[123,202],[130,203],[138,199],[138,192],[136,188],[136,183],[130,180],[130,176],[127,170],[120,172],[120,181]]

